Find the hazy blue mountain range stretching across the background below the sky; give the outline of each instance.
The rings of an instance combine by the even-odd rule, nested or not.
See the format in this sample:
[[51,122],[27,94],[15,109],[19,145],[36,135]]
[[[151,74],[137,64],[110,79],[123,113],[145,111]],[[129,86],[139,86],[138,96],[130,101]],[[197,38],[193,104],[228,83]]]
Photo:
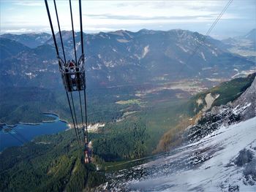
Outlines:
[[[62,31],[62,35],[67,58],[74,58],[71,31]],[[89,86],[170,82],[195,76],[230,77],[236,74],[234,69],[241,71],[254,66],[252,61],[230,53],[224,46],[220,46],[222,42],[211,37],[190,58],[195,47],[204,39],[202,34],[192,31],[142,29],[138,32],[119,30],[84,35]],[[22,39],[24,36],[27,35],[15,38]],[[32,37],[37,36],[34,34]],[[39,47],[22,50],[12,57],[0,58],[1,62],[9,64],[9,70],[3,69],[3,66],[0,68],[0,79],[3,80],[1,86],[22,84],[48,87],[49,79],[45,78],[53,81],[50,84],[53,87],[61,84],[53,40],[48,37],[46,34],[42,34],[42,38],[37,37],[46,39]],[[59,34],[56,34],[56,39],[60,45]],[[80,55],[79,32],[75,33],[75,42]],[[10,77],[10,73],[14,75]]]

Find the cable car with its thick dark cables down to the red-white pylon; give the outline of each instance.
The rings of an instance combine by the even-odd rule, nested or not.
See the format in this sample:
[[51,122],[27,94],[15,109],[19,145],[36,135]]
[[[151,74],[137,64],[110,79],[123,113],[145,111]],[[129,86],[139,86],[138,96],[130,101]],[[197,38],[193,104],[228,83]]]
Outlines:
[[[73,45],[74,45],[74,53],[75,58],[71,60],[66,60],[66,55],[64,51],[64,43],[61,36],[61,27],[59,24],[59,15],[57,12],[57,6],[56,6],[56,0],[53,0],[55,13],[56,13],[56,19],[58,23],[59,28],[59,37],[61,40],[61,48],[63,53],[63,59],[61,58],[61,55],[59,55],[59,47],[56,42],[56,37],[53,29],[53,23],[50,18],[50,10],[48,7],[48,1],[45,0],[45,7],[48,12],[48,18],[50,23],[50,29],[53,35],[53,42],[56,48],[56,55],[59,61],[59,71],[61,72],[61,79],[64,84],[64,88],[67,95],[67,101],[69,103],[69,110],[72,117],[72,123],[75,129],[75,135],[78,140],[78,146],[81,150],[83,150],[84,155],[84,162],[88,164],[91,161],[91,149],[89,147],[89,138],[88,138],[88,121],[87,121],[87,109],[86,109],[86,70],[84,66],[84,52],[83,52],[83,22],[82,22],[82,7],[81,7],[81,0],[79,1],[79,13],[80,13],[80,41],[81,41],[81,55],[80,58],[77,58],[77,50],[75,47],[75,31],[73,26],[73,17],[72,17],[72,4],[71,0],[69,0],[69,8],[70,8],[70,16],[71,16],[71,23],[72,23],[72,39],[73,39]],[[84,97],[84,104],[82,106],[81,101],[81,92]],[[78,112],[75,110],[75,104],[74,104],[74,98],[73,93],[79,93],[79,103],[80,103],[80,118],[82,123],[82,128],[78,126],[78,118],[77,114]],[[84,123],[85,118],[85,123]],[[80,134],[82,132],[82,135]],[[84,147],[83,147],[84,146]]]

